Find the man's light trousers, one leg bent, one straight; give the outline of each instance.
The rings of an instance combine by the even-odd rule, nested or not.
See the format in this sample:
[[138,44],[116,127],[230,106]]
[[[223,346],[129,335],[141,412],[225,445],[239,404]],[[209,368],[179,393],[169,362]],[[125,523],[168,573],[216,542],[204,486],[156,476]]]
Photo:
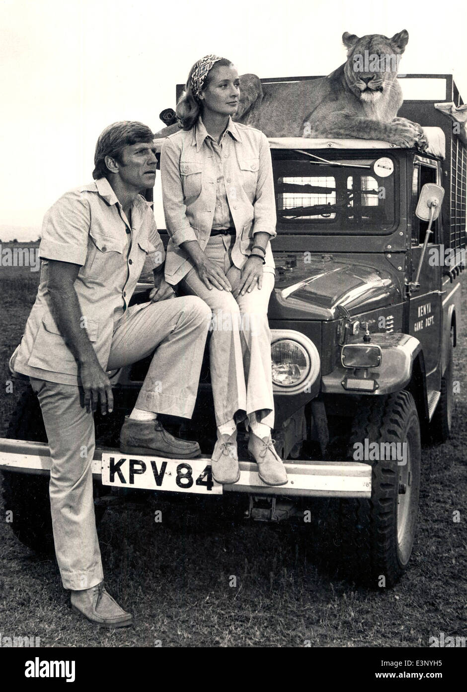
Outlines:
[[[113,334],[108,370],[130,365],[157,348],[137,408],[191,417],[211,311],[199,298],[173,298],[130,307]],[[93,414],[81,406],[82,390],[31,377],[48,437],[50,510],[55,554],[66,589],[102,581],[95,527],[91,464]]]

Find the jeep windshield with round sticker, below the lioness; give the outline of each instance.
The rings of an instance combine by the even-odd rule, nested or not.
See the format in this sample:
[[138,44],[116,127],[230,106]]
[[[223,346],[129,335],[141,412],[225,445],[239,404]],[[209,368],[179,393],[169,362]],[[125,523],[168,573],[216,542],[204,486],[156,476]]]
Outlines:
[[[327,158],[328,152],[321,153]],[[361,235],[392,228],[392,159],[327,158],[329,163],[322,163],[299,152],[274,154],[278,233]]]

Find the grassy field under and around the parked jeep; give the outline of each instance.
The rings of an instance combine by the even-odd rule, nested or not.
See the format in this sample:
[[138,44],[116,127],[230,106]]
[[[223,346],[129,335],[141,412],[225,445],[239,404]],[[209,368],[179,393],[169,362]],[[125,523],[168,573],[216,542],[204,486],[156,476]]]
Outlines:
[[[38,276],[23,271],[1,279],[4,382]],[[134,628],[99,630],[73,614],[55,561],[23,547],[1,521],[0,631],[40,637],[41,646],[106,647],[304,646],[305,640],[328,647],[419,647],[439,632],[465,636],[466,362],[467,340],[460,335],[452,439],[422,449],[419,529],[410,568],[395,588],[365,590],[330,572],[316,523],[309,529],[247,524],[218,498],[200,500],[198,509],[132,501],[107,510],[99,539],[107,588],[134,612]],[[17,396],[18,388],[1,394],[0,435]],[[160,523],[155,509],[162,510]],[[452,521],[455,510],[459,523]]]

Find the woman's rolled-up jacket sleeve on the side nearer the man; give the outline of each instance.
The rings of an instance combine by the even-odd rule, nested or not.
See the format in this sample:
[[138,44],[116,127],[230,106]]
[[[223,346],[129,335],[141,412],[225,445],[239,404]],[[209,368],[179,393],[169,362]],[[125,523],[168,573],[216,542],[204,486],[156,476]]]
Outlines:
[[187,218],[182,179],[180,177],[180,149],[171,138],[162,143],[160,176],[164,217],[171,239],[176,245],[196,240],[196,233]]

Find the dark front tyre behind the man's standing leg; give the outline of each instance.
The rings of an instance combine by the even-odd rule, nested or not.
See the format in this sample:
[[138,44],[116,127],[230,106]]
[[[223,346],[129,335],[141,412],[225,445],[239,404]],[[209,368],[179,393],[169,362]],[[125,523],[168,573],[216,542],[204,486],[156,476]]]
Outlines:
[[[47,443],[41,407],[32,388],[21,394],[6,437]],[[2,491],[5,511],[12,511],[10,527],[23,545],[41,554],[53,554],[52,517],[48,483],[50,475],[3,471]],[[95,507],[96,525],[105,507]]]

